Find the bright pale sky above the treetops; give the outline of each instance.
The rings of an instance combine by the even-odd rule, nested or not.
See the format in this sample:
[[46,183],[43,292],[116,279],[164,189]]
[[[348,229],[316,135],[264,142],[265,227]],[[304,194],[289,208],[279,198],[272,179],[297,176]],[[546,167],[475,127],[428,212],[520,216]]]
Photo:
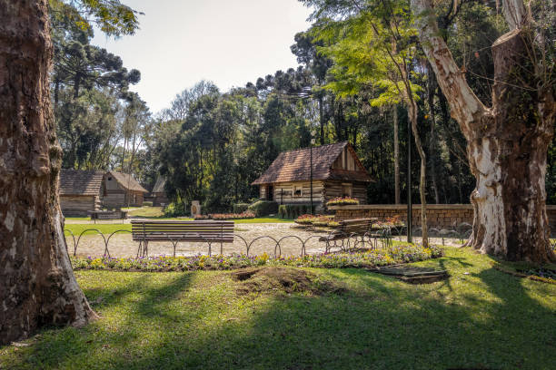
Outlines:
[[311,10],[297,0],[123,0],[139,15],[134,35],[93,44],[141,72],[139,93],[151,112],[201,80],[222,92],[298,65],[293,36],[309,28]]

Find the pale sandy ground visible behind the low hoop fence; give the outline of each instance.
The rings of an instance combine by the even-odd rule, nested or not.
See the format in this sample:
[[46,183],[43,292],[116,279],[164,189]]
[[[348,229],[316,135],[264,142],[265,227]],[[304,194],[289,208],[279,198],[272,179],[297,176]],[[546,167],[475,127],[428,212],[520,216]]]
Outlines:
[[[276,253],[282,256],[299,256],[302,253],[302,239],[305,242],[306,254],[323,253],[326,243],[319,241],[319,237],[326,233],[309,232],[303,229],[295,229],[293,224],[285,223],[263,223],[263,224],[238,224],[235,227],[233,243],[224,243],[222,252],[224,255],[233,253],[246,253],[247,244],[251,244],[249,249],[250,256],[257,256],[266,253],[274,256],[276,242],[281,240],[280,250]],[[241,239],[241,238],[243,239]],[[295,238],[296,237],[296,238]],[[104,238],[108,238],[105,235]],[[299,238],[299,239],[298,239]],[[255,240],[256,239],[256,240]],[[405,240],[405,237],[396,237],[395,240]],[[70,254],[74,254],[74,240],[66,236]],[[418,239],[415,241],[419,241]],[[432,239],[432,243],[441,244],[441,239]],[[446,240],[446,244],[455,244],[455,240]],[[134,257],[137,255],[139,243],[132,240],[131,234],[114,234],[108,242],[108,251],[111,257]],[[174,248],[171,242],[152,242],[149,243],[149,256],[166,255],[172,256]],[[212,254],[220,253],[220,243],[212,246]],[[175,250],[176,256],[195,256],[198,254],[209,254],[206,243],[179,242]],[[100,235],[84,235],[75,250],[76,256],[82,257],[102,257],[104,255],[104,239]]]

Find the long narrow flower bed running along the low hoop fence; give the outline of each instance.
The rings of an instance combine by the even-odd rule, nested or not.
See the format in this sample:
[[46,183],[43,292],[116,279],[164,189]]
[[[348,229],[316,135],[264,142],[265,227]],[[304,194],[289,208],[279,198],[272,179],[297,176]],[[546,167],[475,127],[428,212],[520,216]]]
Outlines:
[[75,258],[70,257],[74,269],[120,271],[191,271],[228,270],[255,266],[283,266],[296,268],[372,268],[442,257],[440,247],[422,248],[420,245],[400,245],[392,249],[352,253],[323,253],[302,257],[272,258],[261,256],[195,256],[150,258]]

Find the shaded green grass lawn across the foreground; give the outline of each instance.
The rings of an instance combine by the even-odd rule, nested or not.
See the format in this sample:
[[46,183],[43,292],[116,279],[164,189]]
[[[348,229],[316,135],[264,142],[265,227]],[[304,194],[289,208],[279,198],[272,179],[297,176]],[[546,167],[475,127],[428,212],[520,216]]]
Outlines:
[[102,319],[0,347],[0,368],[554,368],[556,285],[504,274],[468,248],[416,265],[451,277],[412,286],[309,269],[344,287],[321,295],[241,293],[226,271],[76,271]]

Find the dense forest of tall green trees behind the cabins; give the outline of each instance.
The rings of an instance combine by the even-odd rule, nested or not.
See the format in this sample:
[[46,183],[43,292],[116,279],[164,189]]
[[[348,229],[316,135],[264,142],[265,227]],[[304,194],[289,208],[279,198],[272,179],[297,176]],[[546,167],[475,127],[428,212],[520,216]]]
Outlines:
[[[370,203],[394,202],[397,161],[400,202],[405,202],[408,114],[399,80],[385,55],[366,47],[372,40],[358,34],[361,24],[345,24],[333,14],[318,13],[313,4],[318,2],[307,3],[317,8],[313,26],[293,40],[298,68],[253,76],[252,82],[228,92],[201,81],[153,114],[129,91],[130,84],[139,82],[139,71],[128,71],[117,55],[90,44],[93,31],[74,22],[79,14],[71,5],[51,2],[51,97],[64,168],[131,172],[147,188],[163,174],[174,200],[201,200],[205,209],[230,210],[235,202],[256,198],[258,189],[251,182],[280,151],[308,147],[314,130],[316,145],[352,143],[376,180],[368,188]],[[398,47],[411,61],[418,129],[427,154],[427,200],[467,203],[475,180],[465,140],[414,30],[406,26],[411,20],[404,3],[392,4],[400,6],[394,18],[405,26]],[[456,62],[482,102],[489,102],[490,46],[507,31],[496,5],[463,1],[438,11]],[[419,199],[419,166],[413,149],[414,200]],[[546,190],[547,202],[556,204],[555,141]]]

